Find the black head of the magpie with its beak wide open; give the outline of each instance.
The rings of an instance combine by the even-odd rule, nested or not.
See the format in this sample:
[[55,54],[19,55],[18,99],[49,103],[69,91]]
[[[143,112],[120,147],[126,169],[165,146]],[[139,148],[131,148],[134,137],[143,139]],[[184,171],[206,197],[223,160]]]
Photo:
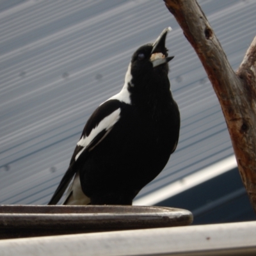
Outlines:
[[[168,74],[168,62],[174,56],[168,57],[168,49],[165,47],[165,39],[171,28],[166,28],[158,36],[154,44],[146,44],[137,49],[132,55],[127,75],[131,80],[138,81],[148,77],[157,77]],[[127,77],[129,79],[129,77]]]

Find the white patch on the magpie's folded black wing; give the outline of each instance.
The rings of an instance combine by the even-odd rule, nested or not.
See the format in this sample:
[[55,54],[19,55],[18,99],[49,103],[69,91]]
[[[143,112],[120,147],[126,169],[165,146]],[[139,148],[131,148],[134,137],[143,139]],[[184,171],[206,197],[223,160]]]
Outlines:
[[[103,118],[100,123],[92,129],[90,134],[84,138],[84,136],[77,142],[77,146],[83,147],[81,151],[76,155],[77,158],[83,153],[84,149],[90,145],[90,143],[93,141],[93,139],[99,134],[101,131],[106,130],[108,131],[113,127],[114,124],[119,120],[120,118],[121,109],[118,108],[114,112],[112,112],[110,115]],[[103,137],[105,138],[105,136]],[[100,140],[101,141],[101,140]],[[97,143],[98,144],[98,143]]]

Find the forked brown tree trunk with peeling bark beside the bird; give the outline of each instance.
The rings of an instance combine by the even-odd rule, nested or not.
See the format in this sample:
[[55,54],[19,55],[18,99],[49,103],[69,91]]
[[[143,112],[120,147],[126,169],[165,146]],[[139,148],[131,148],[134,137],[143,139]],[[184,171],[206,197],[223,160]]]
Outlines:
[[220,101],[244,186],[256,212],[256,37],[235,73],[196,0],[164,0]]

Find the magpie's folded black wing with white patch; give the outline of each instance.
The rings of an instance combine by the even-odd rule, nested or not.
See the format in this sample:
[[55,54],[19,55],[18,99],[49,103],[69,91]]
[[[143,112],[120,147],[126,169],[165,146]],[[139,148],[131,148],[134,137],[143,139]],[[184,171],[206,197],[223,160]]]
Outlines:
[[79,159],[86,159],[93,148],[106,138],[113,126],[118,122],[121,113],[119,100],[107,100],[97,108],[88,119],[80,140],[74,150],[67,172],[54,192],[49,205],[57,204],[67,189],[68,184],[77,172]]

